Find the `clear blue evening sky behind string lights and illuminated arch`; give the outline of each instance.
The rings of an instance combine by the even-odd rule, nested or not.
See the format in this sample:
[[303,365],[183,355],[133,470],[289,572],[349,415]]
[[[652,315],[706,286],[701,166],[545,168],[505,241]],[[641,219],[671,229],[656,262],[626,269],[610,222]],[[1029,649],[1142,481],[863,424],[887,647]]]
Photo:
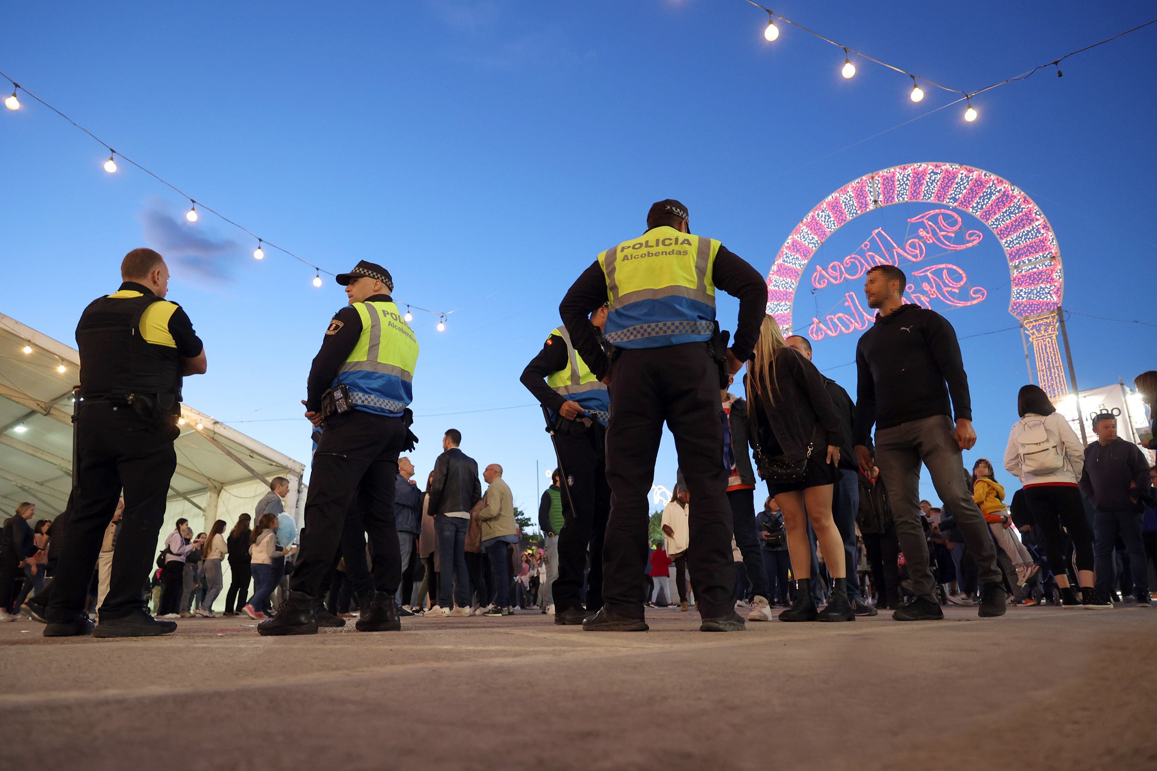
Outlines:
[[[1151,2],[775,9],[961,89],[1155,15]],[[952,107],[897,127],[951,97],[928,89],[913,104],[906,78],[868,61],[846,81],[842,52],[790,28],[766,43],[766,16],[742,0],[22,3],[5,22],[0,69],[117,150],[327,270],[378,262],[399,302],[455,310],[442,333],[415,316],[414,463],[425,479],[456,427],[480,464],[506,468],[525,509],[554,461],[518,375],[574,278],[640,233],[661,198],[686,203],[694,232],[766,276],[796,222],[845,183],[900,163],[966,163],[1041,205],[1066,307],[1157,322],[1157,28],[1068,60],[1061,79],[1042,72],[982,95],[973,124]],[[297,402],[341,288],[315,289],[310,269],[272,250],[256,262],[252,240],[211,215],[185,226],[187,203],[127,164],[105,174],[98,145],[24,104],[0,110],[0,310],[74,344],[81,309],[116,288],[120,257],[160,247],[170,298],[208,352],[186,401],[308,460]],[[876,227],[899,241],[915,213],[862,216],[827,255]],[[946,314],[961,337],[1016,324],[1007,265],[980,229],[985,241],[957,262],[989,296]],[[802,291],[796,318],[841,299]],[[724,326],[735,311],[721,300]],[[1081,386],[1152,368],[1154,331],[1074,317]],[[1000,457],[1027,380],[1016,331],[961,347],[980,435],[971,464]],[[816,345],[854,395],[854,367],[838,366],[853,351],[850,336]],[[668,440],[657,482],[672,485],[675,467]]]

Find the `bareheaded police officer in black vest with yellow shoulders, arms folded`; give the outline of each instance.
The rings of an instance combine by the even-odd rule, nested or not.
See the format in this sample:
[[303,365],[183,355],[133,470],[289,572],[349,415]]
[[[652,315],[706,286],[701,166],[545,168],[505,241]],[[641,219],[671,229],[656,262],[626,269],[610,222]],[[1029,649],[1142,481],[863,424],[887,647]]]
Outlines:
[[[120,289],[94,300],[76,325],[76,484],[45,637],[148,637],[177,629],[148,615],[142,589],[177,469],[182,377],[205,373],[205,346],[180,306],[164,300],[169,267],[161,255],[133,249],[120,277]],[[94,631],[84,603],[121,489],[124,524]]]

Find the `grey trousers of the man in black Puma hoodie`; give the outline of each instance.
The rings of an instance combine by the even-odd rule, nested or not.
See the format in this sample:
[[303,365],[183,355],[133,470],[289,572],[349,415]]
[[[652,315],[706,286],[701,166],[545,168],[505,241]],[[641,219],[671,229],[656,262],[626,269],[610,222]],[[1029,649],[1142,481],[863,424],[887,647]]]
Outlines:
[[920,464],[928,467],[941,501],[951,509],[983,583],[1000,583],[996,546],[965,483],[964,460],[946,414],[921,418],[876,431],[876,465],[892,501],[896,536],[919,597],[936,600],[936,579],[928,565],[928,541],[920,523]]

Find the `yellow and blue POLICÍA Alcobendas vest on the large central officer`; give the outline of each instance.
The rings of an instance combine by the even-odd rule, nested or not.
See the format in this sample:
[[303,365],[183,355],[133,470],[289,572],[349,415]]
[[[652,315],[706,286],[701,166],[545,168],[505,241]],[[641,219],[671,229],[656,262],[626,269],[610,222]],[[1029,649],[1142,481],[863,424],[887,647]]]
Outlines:
[[710,339],[715,331],[715,282],[720,242],[653,228],[598,256],[606,277],[607,342],[653,348]]

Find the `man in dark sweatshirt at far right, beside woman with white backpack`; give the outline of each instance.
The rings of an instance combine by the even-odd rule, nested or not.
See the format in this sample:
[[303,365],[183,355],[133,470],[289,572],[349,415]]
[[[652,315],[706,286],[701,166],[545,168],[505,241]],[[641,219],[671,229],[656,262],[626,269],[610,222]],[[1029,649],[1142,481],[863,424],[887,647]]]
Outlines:
[[1089,499],[1095,512],[1096,603],[1107,605],[1117,586],[1113,544],[1120,535],[1129,552],[1133,590],[1137,604],[1144,608],[1149,605],[1149,561],[1141,538],[1145,511],[1141,500],[1149,492],[1149,463],[1141,448],[1117,435],[1117,417],[1111,412],[1093,418],[1092,429],[1097,441],[1085,448],[1085,468],[1079,484],[1081,494]]

